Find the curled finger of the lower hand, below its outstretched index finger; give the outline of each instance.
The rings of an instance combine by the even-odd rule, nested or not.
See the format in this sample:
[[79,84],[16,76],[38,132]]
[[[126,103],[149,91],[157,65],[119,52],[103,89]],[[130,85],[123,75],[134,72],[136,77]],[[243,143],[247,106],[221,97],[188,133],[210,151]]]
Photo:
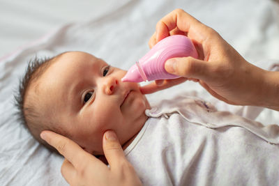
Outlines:
[[65,178],[65,180],[70,185],[74,185],[74,181],[76,180],[77,171],[73,164],[71,164],[68,160],[64,160],[61,166],[61,174]]

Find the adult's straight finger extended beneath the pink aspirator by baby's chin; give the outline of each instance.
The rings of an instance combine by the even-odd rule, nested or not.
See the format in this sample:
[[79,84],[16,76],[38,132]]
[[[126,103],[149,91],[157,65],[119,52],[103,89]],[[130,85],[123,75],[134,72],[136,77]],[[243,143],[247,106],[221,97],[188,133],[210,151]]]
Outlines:
[[156,84],[156,82],[152,82],[151,84],[147,84],[145,86],[140,87],[140,91],[143,94],[155,93],[157,91],[164,90],[166,88],[175,86],[177,84],[181,84],[186,82],[186,77],[179,77],[177,79],[165,79],[163,82],[160,81],[160,84]]

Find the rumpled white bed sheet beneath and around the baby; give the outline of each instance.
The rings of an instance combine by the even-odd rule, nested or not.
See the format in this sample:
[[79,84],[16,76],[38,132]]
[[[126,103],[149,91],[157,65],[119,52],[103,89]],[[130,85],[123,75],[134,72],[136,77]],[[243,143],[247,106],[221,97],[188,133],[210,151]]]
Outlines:
[[[60,173],[63,159],[40,146],[16,121],[13,93],[34,55],[81,50],[128,69],[149,50],[156,22],[175,8],[183,8],[216,29],[251,63],[268,69],[279,59],[279,14],[273,1],[81,2],[0,2],[0,185],[67,185]],[[264,125],[279,121],[276,111],[225,104],[193,82],[148,95],[148,99],[154,104],[181,92]]]

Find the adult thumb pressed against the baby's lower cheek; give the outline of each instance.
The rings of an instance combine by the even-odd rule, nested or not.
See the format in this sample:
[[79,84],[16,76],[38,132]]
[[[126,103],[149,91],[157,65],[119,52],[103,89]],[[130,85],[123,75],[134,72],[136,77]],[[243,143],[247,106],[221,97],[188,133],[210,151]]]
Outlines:
[[107,130],[103,136],[103,150],[112,169],[118,167],[119,162],[121,162],[119,160],[126,160],[121,144],[112,130]]

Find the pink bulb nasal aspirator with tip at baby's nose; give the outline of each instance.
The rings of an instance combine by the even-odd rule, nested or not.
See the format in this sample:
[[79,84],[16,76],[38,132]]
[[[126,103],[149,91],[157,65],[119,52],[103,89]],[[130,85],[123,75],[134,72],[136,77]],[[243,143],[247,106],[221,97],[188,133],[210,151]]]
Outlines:
[[156,79],[175,79],[179,76],[165,70],[167,59],[192,56],[197,58],[193,42],[186,36],[173,35],[160,40],[138,62],[133,65],[122,82],[143,82]]

